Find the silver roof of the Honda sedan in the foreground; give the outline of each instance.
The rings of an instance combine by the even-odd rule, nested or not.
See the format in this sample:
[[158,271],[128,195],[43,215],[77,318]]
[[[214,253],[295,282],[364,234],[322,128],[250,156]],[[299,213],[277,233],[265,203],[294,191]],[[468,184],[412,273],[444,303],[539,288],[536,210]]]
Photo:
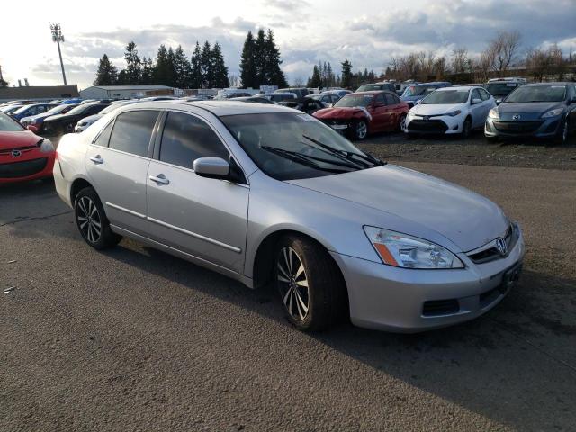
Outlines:
[[[206,111],[211,112],[217,117],[222,117],[225,115],[239,115],[239,114],[266,114],[274,112],[290,112],[294,111],[289,108],[284,108],[283,106],[277,104],[268,103],[245,103],[238,101],[155,101],[155,102],[141,102],[138,103],[138,108],[158,108],[166,109],[168,107],[174,108],[175,106],[182,106],[183,108],[197,107],[202,108]],[[120,109],[123,111],[129,111],[132,105],[126,105]],[[126,110],[123,110],[126,108]]]

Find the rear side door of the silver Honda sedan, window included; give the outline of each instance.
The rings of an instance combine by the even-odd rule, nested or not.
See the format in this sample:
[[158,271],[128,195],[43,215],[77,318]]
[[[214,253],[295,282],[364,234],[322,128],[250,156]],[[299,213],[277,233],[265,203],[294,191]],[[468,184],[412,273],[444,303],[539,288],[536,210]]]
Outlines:
[[112,223],[138,234],[147,229],[150,141],[158,111],[122,112],[88,146],[85,166]]

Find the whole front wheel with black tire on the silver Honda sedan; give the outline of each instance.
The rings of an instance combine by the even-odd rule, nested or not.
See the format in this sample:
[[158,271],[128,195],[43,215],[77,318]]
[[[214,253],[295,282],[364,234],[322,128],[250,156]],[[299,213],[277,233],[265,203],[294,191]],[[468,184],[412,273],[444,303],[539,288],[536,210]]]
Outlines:
[[346,287],[328,252],[290,235],[276,248],[275,284],[288,320],[303,331],[327,329],[347,313]]

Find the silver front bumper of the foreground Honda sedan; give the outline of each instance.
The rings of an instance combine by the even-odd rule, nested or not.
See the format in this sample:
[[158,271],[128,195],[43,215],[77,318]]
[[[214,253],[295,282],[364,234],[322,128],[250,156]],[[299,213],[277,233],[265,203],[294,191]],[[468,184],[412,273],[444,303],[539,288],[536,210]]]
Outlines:
[[524,254],[519,229],[507,257],[474,264],[457,254],[464,269],[406,269],[331,252],[347,283],[352,323],[399,333],[439,329],[490,311],[509,291],[504,275],[521,266]]

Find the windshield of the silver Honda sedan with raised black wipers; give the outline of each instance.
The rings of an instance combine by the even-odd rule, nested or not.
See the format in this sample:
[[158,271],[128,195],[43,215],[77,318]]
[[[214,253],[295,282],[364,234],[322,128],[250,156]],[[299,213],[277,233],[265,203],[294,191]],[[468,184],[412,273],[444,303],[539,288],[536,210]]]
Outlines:
[[220,117],[254,163],[277,180],[347,173],[383,162],[308,114],[268,112]]

